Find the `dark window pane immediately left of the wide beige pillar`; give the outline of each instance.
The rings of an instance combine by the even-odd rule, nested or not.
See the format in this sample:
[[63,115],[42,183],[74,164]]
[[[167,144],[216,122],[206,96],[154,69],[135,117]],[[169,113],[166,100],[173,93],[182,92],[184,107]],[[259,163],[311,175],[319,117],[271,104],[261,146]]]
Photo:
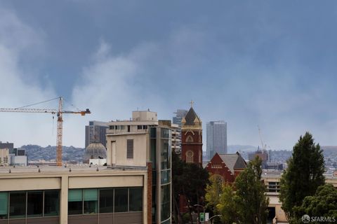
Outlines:
[[44,216],[60,215],[60,195],[58,190],[44,191]]

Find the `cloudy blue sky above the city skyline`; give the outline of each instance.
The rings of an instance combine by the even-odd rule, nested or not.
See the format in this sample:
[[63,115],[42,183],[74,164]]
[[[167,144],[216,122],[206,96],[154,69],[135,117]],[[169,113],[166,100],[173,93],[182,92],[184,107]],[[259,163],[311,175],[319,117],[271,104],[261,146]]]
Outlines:
[[[2,1],[0,108],[62,96],[63,145],[137,109],[227,122],[227,144],[337,145],[336,1]],[[36,108],[57,109],[58,102]],[[0,141],[55,146],[51,114],[0,113]]]

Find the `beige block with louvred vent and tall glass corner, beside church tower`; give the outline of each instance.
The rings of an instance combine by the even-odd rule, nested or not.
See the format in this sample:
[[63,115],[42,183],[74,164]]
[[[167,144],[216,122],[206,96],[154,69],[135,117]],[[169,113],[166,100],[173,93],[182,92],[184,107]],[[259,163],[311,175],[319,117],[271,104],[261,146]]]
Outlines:
[[171,223],[171,121],[158,120],[152,111],[133,111],[131,120],[108,125],[107,166],[152,167],[148,223]]

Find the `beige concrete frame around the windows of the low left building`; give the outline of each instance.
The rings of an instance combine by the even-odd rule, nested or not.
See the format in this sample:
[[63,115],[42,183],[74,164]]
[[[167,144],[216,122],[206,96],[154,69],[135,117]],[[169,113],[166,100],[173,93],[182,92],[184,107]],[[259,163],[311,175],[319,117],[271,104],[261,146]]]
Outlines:
[[[147,169],[119,170],[99,168],[72,167],[70,168],[43,168],[39,169],[0,169],[0,191],[13,190],[60,190],[60,217],[57,223],[68,223],[68,190],[70,188],[114,188],[114,187],[138,187],[143,186],[143,213],[137,213],[133,219],[138,220],[135,223],[147,223]],[[65,171],[67,170],[67,171]],[[150,211],[151,212],[151,211]],[[135,218],[136,217],[136,218]],[[140,218],[141,217],[141,218]],[[49,223],[42,218],[36,218],[33,221],[27,218],[27,223]],[[76,218],[75,218],[76,219]],[[142,221],[140,221],[140,219]],[[28,221],[29,220],[29,221]],[[78,223],[69,218],[70,223]],[[121,218],[120,223],[128,223],[128,218]],[[140,222],[139,222],[140,221]],[[0,221],[1,224],[2,221]],[[6,221],[7,223],[7,221]],[[26,223],[26,219],[13,220],[10,223]],[[55,223],[51,221],[50,223]],[[95,223],[95,222],[93,222]],[[104,222],[103,222],[104,223]],[[119,222],[116,222],[119,223]]]

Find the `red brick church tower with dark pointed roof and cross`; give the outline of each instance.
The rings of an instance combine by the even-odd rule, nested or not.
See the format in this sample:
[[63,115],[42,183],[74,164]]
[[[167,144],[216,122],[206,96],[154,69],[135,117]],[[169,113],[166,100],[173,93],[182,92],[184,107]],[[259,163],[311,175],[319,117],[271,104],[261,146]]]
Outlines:
[[181,120],[181,158],[202,167],[202,126],[191,102],[190,111]]

